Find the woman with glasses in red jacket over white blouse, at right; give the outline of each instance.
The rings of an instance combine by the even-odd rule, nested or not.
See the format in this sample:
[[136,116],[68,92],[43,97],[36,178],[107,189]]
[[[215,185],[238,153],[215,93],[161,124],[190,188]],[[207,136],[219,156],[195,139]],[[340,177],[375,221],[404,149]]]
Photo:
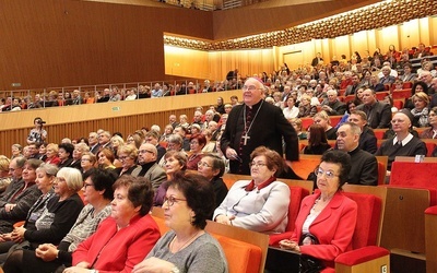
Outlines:
[[351,170],[351,156],[332,150],[321,157],[316,168],[319,192],[306,197],[290,239],[280,241],[284,249],[298,251],[333,265],[334,259],[352,249],[357,204],[342,194]]

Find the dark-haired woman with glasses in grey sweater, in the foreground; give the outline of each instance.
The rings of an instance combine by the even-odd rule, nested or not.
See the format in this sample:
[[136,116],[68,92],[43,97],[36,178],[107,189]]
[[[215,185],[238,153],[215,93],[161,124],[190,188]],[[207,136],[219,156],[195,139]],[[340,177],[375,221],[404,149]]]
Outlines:
[[211,185],[202,176],[175,174],[163,205],[165,224],[170,228],[132,273],[228,272],[220,244],[206,232],[206,219],[214,210]]

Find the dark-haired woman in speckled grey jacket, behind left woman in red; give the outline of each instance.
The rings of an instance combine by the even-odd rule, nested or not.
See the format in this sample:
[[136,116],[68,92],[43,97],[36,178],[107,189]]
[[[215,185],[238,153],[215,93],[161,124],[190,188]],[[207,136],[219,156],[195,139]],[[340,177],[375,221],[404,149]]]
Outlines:
[[87,205],[82,209],[67,236],[57,247],[43,244],[35,251],[23,249],[12,252],[3,264],[4,272],[59,272],[64,266],[71,266],[72,252],[79,244],[93,235],[101,222],[110,215],[116,179],[110,170],[96,168],[86,171],[82,191]]

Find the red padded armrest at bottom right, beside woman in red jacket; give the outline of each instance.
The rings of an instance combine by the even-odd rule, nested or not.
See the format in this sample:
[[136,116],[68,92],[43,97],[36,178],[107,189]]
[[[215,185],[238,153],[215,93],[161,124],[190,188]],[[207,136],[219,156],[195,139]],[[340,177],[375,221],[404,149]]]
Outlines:
[[359,249],[351,250],[339,254],[335,258],[335,263],[341,263],[344,265],[355,265],[363,262],[368,262],[383,256],[389,256],[390,251],[385,248],[376,246],[367,246]]

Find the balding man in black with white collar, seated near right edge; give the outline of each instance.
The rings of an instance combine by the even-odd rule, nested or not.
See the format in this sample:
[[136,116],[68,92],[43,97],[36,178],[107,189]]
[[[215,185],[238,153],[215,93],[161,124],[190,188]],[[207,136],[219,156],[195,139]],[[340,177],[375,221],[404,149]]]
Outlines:
[[391,127],[395,135],[385,141],[375,155],[387,155],[389,157],[387,175],[390,175],[391,164],[395,156],[426,155],[425,143],[413,134],[409,129],[413,123],[413,115],[408,109],[394,114]]

